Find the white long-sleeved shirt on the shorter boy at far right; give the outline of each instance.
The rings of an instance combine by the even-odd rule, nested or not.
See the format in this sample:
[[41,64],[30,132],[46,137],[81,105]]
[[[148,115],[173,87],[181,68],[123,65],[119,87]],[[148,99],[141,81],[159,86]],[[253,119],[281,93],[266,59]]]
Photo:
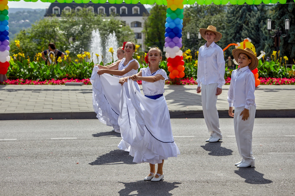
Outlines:
[[254,91],[255,78],[249,66],[232,71],[230,89],[227,93],[227,102],[230,103],[230,107],[245,106],[249,110],[251,106],[255,105]]

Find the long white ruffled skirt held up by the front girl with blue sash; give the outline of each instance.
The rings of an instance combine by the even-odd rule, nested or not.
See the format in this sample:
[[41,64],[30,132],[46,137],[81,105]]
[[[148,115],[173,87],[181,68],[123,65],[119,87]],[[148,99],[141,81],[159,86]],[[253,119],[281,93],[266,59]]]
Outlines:
[[180,154],[174,142],[170,114],[165,97],[150,99],[136,91],[132,80],[128,80],[130,98],[126,86],[122,87],[118,123],[122,140],[121,150],[130,150],[133,162],[162,163],[162,159]]

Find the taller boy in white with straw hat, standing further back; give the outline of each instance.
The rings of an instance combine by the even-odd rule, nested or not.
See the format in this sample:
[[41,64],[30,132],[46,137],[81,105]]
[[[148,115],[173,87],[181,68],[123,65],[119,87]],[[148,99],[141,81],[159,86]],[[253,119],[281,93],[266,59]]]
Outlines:
[[207,41],[199,48],[197,93],[201,93],[204,119],[210,134],[206,142],[222,140],[219,128],[219,116],[216,107],[217,96],[222,92],[225,84],[225,61],[222,49],[215,43],[222,34],[216,31],[216,27],[209,25],[207,29],[200,29],[201,36]]

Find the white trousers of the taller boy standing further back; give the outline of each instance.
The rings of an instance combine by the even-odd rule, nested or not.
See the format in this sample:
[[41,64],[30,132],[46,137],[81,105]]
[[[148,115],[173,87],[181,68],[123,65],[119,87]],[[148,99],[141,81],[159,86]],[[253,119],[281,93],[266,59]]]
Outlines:
[[216,107],[217,102],[217,89],[218,83],[202,84],[201,97],[204,119],[209,131],[209,134],[213,137],[222,138],[222,134],[219,128],[219,116]]

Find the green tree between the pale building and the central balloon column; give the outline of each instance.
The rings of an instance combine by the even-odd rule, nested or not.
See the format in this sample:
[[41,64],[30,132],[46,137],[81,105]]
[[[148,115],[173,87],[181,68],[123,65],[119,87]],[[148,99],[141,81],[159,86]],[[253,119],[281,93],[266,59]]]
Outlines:
[[150,10],[150,15],[146,16],[143,32],[145,33],[145,45],[147,47],[156,45],[161,50],[164,47],[166,9],[167,6],[156,4]]

